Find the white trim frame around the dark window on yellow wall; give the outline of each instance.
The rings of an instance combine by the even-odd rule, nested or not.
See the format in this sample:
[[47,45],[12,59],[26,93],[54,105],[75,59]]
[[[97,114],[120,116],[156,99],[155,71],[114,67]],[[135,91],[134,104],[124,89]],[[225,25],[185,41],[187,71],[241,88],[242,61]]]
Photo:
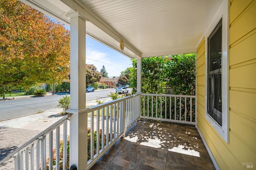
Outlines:
[[[222,127],[207,113],[208,37],[222,18]],[[224,0],[205,32],[205,117],[229,143],[229,0]]]

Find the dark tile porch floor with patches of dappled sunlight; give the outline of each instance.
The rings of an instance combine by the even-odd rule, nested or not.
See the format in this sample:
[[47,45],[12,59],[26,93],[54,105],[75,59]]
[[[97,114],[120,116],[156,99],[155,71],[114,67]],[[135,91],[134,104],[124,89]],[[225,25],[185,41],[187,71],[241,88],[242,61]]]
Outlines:
[[91,170],[215,170],[195,127],[142,120]]

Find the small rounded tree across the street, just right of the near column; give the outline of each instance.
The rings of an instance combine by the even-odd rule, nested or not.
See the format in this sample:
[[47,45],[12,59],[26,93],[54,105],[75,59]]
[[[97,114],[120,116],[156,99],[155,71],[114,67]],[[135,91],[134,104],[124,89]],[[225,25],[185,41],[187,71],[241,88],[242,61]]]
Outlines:
[[86,64],[86,85],[100,81],[101,75],[93,64]]

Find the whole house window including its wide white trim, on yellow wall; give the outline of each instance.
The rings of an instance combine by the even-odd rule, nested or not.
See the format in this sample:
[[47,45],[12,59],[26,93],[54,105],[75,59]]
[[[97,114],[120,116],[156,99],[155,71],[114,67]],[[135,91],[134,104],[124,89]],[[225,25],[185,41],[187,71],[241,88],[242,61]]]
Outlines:
[[205,32],[205,118],[229,143],[229,1],[223,0]]

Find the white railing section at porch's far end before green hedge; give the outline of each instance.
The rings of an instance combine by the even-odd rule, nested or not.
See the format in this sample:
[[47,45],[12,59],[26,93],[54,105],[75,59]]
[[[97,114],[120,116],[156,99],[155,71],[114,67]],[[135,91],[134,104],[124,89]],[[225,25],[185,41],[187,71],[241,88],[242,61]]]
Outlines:
[[141,118],[196,125],[196,96],[141,94]]

